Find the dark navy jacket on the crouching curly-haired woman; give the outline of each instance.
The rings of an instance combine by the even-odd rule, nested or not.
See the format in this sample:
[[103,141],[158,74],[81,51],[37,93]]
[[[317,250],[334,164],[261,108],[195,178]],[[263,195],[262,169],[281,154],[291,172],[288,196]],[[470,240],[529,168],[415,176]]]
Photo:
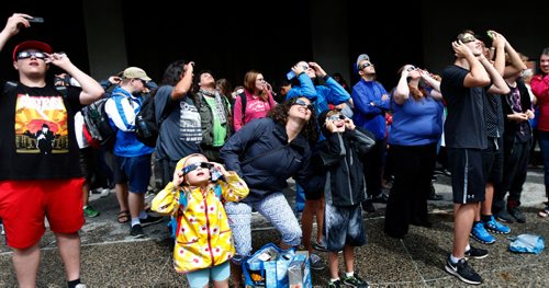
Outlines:
[[246,124],[221,149],[226,169],[235,171],[249,187],[245,203],[281,192],[289,177],[305,191],[322,189],[322,180],[310,171],[311,153],[304,136],[288,143],[285,127],[269,117]]

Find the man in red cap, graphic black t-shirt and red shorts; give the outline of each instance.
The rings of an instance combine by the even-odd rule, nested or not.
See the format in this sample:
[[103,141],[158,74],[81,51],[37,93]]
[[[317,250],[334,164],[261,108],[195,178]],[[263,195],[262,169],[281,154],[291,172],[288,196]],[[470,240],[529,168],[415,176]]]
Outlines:
[[[14,13],[0,33],[0,50],[31,15]],[[0,218],[20,287],[35,287],[44,219],[55,233],[68,287],[80,284],[80,237],[83,224],[82,184],[74,117],[99,99],[101,85],[49,45],[26,41],[13,49],[18,83],[0,81]],[[56,66],[80,84],[59,92],[46,82]],[[46,124],[47,123],[47,124]],[[45,126],[48,126],[47,129]],[[43,129],[44,127],[44,129]],[[55,135],[55,137],[54,137]],[[53,139],[55,138],[55,139]],[[45,153],[47,152],[47,154]]]

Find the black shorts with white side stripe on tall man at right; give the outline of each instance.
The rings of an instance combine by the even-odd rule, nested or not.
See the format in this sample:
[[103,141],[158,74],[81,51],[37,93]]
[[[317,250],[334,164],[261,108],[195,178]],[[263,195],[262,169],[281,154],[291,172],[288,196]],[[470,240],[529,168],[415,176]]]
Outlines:
[[486,184],[482,152],[481,149],[448,149],[453,203],[467,204],[484,200]]

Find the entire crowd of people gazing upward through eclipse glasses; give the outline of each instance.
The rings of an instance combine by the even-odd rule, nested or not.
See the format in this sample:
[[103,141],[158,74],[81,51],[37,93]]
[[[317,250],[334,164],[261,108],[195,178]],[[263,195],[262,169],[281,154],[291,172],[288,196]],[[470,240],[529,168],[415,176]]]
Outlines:
[[[21,13],[8,19],[0,50],[31,19]],[[440,76],[403,65],[391,90],[377,79],[366,54],[355,62],[359,80],[351,87],[318,62],[301,60],[291,67],[292,79],[274,87],[249,70],[232,89],[183,59],[170,64],[158,84],[138,67],[100,84],[48,44],[20,43],[12,53],[19,81],[2,81],[0,97],[0,218],[19,285],[36,283],[47,218],[68,287],[86,287],[78,231],[85,216],[99,215],[88,196],[101,171],[103,185],[115,189],[116,220],[130,223],[130,237],[146,237],[143,228],[163,216],[176,219],[175,269],[191,287],[228,287],[231,276],[234,287],[243,286],[243,262],[253,254],[253,211],[280,233],[281,249],[303,245],[311,268],[324,269],[318,252],[327,252],[328,287],[369,287],[354,267],[355,247],[367,243],[363,211],[386,204],[384,232],[391,238],[404,238],[410,224],[432,227],[427,200],[442,147],[455,204],[445,269],[481,284],[467,258],[483,258],[489,251],[473,247],[470,235],[490,244],[495,241],[490,232],[509,233],[505,223],[526,221],[519,207],[534,103],[549,197],[549,48],[529,82],[530,95],[524,58],[502,34],[489,32],[491,43],[472,31],[457,35],[450,44],[455,62]],[[66,72],[57,78],[60,84],[46,80],[51,66]],[[116,135],[112,146],[94,150],[82,138],[79,111],[101,97],[108,99]],[[154,99],[159,127],[155,147],[136,135],[146,97]],[[296,182],[295,208],[282,193],[290,177]],[[161,191],[146,207],[150,178]],[[386,178],[393,180],[389,194]],[[540,217],[549,215],[546,205]]]

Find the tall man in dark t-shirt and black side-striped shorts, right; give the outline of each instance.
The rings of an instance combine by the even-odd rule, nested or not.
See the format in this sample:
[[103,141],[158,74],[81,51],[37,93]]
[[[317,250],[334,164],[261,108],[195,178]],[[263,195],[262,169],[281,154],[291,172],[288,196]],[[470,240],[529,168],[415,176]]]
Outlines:
[[508,93],[508,87],[482,54],[481,42],[464,31],[452,42],[453,65],[442,71],[440,90],[448,108],[445,140],[453,194],[453,247],[446,270],[468,284],[482,278],[468,267],[466,256],[485,257],[488,251],[469,245],[479,204],[484,200],[482,149],[486,148],[484,100],[486,92]]

